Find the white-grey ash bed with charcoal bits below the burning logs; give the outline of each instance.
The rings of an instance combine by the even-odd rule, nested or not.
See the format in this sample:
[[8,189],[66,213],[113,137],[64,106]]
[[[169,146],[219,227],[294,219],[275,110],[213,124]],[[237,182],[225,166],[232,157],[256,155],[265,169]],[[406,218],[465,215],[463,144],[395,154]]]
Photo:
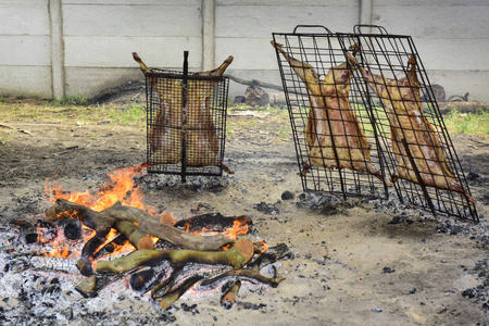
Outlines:
[[[76,269],[77,258],[39,255],[40,248],[49,244],[27,244],[14,227],[0,230],[0,325],[165,325],[176,322],[173,313],[178,310],[196,314],[199,302],[217,301],[221,296],[222,284],[213,289],[200,289],[197,285],[170,311],[163,311],[150,292],[131,289],[128,274],[104,287],[95,298],[85,298],[75,289],[85,278]],[[74,247],[80,243],[71,241]],[[189,265],[187,268],[214,276],[230,267]],[[267,274],[266,268],[263,274]],[[266,285],[244,281],[240,296],[268,289]]]

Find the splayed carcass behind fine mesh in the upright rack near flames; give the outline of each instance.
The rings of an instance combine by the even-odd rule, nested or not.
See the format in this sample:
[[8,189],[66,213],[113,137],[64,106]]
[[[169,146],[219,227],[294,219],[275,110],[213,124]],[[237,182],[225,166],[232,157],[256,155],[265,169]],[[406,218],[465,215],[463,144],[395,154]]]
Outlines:
[[[218,158],[220,143],[216,128],[209,108],[211,92],[216,80],[188,79],[186,125],[183,125],[183,84],[177,79],[148,75],[155,73],[149,68],[139,55],[134,52],[134,60],[140,65],[153,89],[158,92],[160,106],[154,121],[150,124],[150,148],[153,152],[150,165],[176,164],[181,161],[183,130],[186,131],[186,165],[187,166],[221,166],[227,173],[234,171]],[[195,73],[198,76],[222,76],[233,57],[209,72]],[[183,129],[183,127],[185,127]]]

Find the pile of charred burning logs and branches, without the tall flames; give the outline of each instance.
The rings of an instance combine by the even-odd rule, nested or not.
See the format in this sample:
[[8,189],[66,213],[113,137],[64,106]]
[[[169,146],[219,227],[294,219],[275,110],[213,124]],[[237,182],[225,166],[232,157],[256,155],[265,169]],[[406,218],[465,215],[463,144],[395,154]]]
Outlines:
[[[286,244],[268,248],[264,242],[253,243],[244,238],[231,240],[220,236],[192,235],[178,228],[225,233],[226,228],[239,224],[246,234],[248,226],[252,225],[250,217],[205,214],[185,220],[175,227],[163,223],[168,220],[166,215],[153,216],[118,202],[96,212],[59,199],[47,212],[47,220],[54,223],[80,221],[95,230],[76,263],[78,271],[87,277],[75,289],[86,298],[97,296],[109,284],[130,274],[129,285],[135,291],[146,293],[151,290],[151,298],[167,310],[193,286],[196,289],[206,289],[210,285],[230,279],[233,284],[223,294],[223,305],[230,308],[241,280],[276,287],[284,279],[277,275],[272,278],[260,275],[260,268],[285,256],[288,253]],[[111,233],[114,229],[118,235]],[[154,243],[159,249],[153,248]],[[104,255],[114,253],[117,247],[125,244],[134,247],[134,251],[103,260]],[[162,246],[166,249],[161,249]],[[73,269],[74,260],[71,261]]]

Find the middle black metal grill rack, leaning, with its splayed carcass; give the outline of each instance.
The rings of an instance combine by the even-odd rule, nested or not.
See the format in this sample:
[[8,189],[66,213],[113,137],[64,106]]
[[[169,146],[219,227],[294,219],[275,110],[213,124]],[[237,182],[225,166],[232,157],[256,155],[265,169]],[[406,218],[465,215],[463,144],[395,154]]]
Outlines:
[[338,36],[300,25],[273,39],[303,189],[387,199],[380,138]]

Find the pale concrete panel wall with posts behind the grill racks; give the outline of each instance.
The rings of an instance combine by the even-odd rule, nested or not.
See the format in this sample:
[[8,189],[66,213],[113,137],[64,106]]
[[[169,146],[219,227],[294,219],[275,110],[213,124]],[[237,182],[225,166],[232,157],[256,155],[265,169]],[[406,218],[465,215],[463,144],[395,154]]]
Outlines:
[[[487,0],[0,0],[0,93],[93,97],[153,67],[190,70],[227,55],[228,74],[279,85],[273,32],[299,24],[412,35],[431,84],[489,101]],[[246,86],[231,83],[230,96]]]

